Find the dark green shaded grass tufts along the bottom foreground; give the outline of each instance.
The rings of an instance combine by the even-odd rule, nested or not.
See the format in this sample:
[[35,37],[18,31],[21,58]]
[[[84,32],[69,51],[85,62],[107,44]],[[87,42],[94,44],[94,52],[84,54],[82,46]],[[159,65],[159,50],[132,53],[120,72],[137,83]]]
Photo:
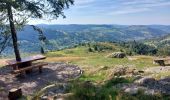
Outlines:
[[167,95],[147,95],[139,90],[137,94],[131,95],[115,87],[117,84],[131,83],[133,78],[112,78],[102,85],[90,81],[75,80],[70,84],[67,92],[74,95],[68,100],[169,100]]

